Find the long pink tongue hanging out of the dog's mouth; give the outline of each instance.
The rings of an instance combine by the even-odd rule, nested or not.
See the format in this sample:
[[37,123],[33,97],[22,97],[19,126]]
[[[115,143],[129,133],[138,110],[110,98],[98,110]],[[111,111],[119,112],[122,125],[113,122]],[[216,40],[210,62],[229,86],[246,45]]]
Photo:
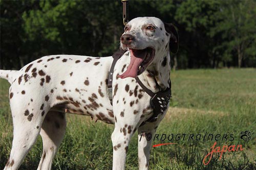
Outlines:
[[130,50],[130,53],[131,53],[131,61],[128,68],[126,69],[126,71],[124,71],[122,75],[118,75],[118,77],[121,79],[124,79],[126,77],[135,78],[137,76],[138,68],[142,63],[142,61],[144,60],[144,56],[143,56],[144,53],[139,54],[138,55],[139,58],[134,56],[134,53],[132,50]]

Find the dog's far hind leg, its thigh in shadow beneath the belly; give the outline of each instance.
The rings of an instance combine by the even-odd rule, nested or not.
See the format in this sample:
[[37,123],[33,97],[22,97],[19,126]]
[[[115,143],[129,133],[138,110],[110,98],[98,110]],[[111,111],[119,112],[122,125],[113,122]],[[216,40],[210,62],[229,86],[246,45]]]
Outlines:
[[43,151],[37,170],[50,170],[66,130],[65,113],[49,111],[41,127]]

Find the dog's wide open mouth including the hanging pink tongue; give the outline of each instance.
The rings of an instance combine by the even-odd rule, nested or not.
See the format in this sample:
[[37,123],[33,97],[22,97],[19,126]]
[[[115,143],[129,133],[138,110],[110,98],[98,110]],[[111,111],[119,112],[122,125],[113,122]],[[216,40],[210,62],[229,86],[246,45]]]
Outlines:
[[121,79],[126,77],[137,77],[142,74],[146,67],[151,63],[155,56],[155,49],[147,47],[143,50],[129,48],[131,54],[131,61],[126,71],[119,75]]

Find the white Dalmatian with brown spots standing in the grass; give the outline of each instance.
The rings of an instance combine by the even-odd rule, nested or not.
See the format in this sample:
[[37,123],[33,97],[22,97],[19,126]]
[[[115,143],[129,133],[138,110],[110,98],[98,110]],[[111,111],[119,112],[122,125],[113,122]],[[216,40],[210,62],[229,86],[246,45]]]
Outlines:
[[[0,77],[11,84],[13,118],[12,149],[5,170],[18,169],[39,134],[43,150],[37,169],[51,169],[65,134],[66,113],[114,124],[113,169],[125,169],[133,134],[137,131],[139,139],[141,133],[154,135],[166,114],[145,123],[153,115],[151,97],[135,78],[153,92],[169,87],[169,51],[177,52],[178,34],[172,24],[156,17],[138,17],[127,23],[120,44],[127,51],[114,68],[112,103],[107,85],[112,56],[52,55],[20,70],[0,70]],[[139,169],[148,169],[151,148],[152,140],[143,135],[138,141]]]

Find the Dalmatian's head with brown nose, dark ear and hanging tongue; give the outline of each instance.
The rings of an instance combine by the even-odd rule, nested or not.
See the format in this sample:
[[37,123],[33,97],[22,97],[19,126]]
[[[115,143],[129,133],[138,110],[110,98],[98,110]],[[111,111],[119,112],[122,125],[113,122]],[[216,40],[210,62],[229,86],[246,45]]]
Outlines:
[[164,23],[156,17],[131,20],[120,37],[121,48],[129,50],[131,56],[130,64],[120,78],[135,78],[169,51],[177,53],[178,41],[179,36],[172,23]]

